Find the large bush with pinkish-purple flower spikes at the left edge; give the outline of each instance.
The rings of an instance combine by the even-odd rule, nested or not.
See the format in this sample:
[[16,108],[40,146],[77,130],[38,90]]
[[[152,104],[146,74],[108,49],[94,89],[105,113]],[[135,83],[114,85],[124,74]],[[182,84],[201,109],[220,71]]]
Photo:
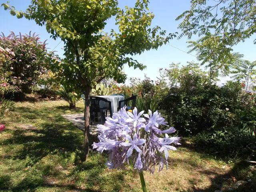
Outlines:
[[38,76],[46,71],[46,64],[52,61],[52,53],[35,33],[3,34],[0,36],[0,94],[29,92]]

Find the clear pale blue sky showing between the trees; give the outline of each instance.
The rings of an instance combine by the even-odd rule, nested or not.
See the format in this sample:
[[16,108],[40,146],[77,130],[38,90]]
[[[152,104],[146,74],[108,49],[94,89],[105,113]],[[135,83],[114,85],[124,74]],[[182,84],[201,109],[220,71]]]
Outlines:
[[[30,0],[9,0],[10,4],[15,6],[17,10],[25,10],[30,4]],[[0,0],[1,4],[6,3],[6,0]],[[124,6],[133,6],[135,0],[119,0],[120,7]],[[150,11],[155,14],[155,18],[152,22],[152,26],[160,26],[163,30],[166,30],[167,33],[180,32],[177,27],[180,21],[175,21],[175,18],[190,8],[190,0],[151,0],[149,4]],[[3,7],[0,9],[0,32],[4,34],[9,34],[9,31],[13,31],[18,34],[28,33],[30,31],[36,32],[39,34],[42,41],[47,40],[49,50],[53,50],[60,42],[60,40],[52,40],[50,34],[46,32],[44,26],[40,27],[36,25],[34,21],[26,20],[25,18],[17,19],[16,16],[11,16],[9,12],[5,11]],[[110,29],[116,29],[113,20],[109,20],[105,28],[105,31],[110,31]],[[234,52],[240,52],[244,54],[244,59],[249,60],[250,62],[256,60],[255,48],[256,45],[253,44],[254,37],[246,40],[243,43],[238,44],[234,47]],[[192,40],[196,40],[192,39]],[[186,43],[187,38],[184,37],[180,40],[171,40],[170,45],[175,46],[184,52],[170,46],[164,45],[158,50],[150,50],[142,53],[141,55],[134,56],[134,59],[137,59],[139,62],[147,66],[143,71],[134,70],[125,66],[124,70],[130,77],[137,77],[143,79],[144,74],[147,74],[152,80],[156,80],[158,76],[159,68],[168,68],[169,64],[172,62],[181,63],[186,65],[188,61],[197,61],[196,57],[187,54],[188,44]],[[57,51],[56,54],[59,56],[63,55],[63,43],[61,42],[54,50]],[[221,81],[224,82],[227,78],[222,78]]]

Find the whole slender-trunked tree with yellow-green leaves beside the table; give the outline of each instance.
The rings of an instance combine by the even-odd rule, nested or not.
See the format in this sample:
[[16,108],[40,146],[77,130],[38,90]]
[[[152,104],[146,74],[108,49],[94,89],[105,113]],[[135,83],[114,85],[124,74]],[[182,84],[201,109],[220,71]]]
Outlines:
[[[26,12],[18,12],[3,4],[10,13],[35,20],[52,34],[64,41],[65,65],[80,82],[85,95],[84,158],[89,151],[89,95],[92,88],[104,78],[124,82],[124,64],[143,70],[145,66],[127,57],[144,50],[157,49],[175,34],[165,36],[160,27],[150,28],[154,14],[148,10],[148,0],[137,0],[135,6],[118,7],[117,0],[32,0]],[[106,21],[115,17],[118,31],[102,32]]]

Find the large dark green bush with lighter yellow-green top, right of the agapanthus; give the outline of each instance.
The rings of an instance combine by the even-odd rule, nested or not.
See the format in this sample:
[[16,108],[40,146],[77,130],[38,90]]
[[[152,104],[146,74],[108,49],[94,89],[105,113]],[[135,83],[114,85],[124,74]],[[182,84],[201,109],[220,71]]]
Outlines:
[[[222,130],[256,120],[252,96],[242,90],[240,82],[228,82],[223,87],[211,84],[198,64],[190,63],[170,70],[172,87],[158,95],[158,105],[169,124],[183,136],[204,130]],[[251,114],[251,115],[250,115]]]

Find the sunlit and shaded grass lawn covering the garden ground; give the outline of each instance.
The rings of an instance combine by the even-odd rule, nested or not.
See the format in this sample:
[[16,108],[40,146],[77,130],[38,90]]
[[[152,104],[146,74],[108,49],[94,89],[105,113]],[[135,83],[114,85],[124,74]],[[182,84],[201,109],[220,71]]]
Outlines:
[[[104,165],[107,154],[92,150],[89,159],[81,162],[83,132],[61,116],[82,113],[83,102],[77,106],[69,110],[63,100],[16,103],[16,109],[1,122],[6,124],[0,133],[1,192],[141,191],[132,166],[108,170]],[[144,172],[148,191],[210,192],[234,188],[236,180],[255,182],[252,166],[226,164],[184,147],[170,152],[168,162],[168,170]]]

